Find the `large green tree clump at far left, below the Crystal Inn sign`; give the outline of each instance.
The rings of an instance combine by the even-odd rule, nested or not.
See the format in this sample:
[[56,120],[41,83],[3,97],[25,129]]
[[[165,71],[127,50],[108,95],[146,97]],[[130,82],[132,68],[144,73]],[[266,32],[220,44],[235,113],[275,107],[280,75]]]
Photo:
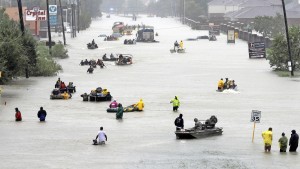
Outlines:
[[[61,70],[46,49],[39,50],[29,32],[22,36],[19,24],[10,20],[4,10],[0,9],[0,71],[4,72],[0,83],[12,77],[24,76],[25,69],[32,76],[50,76]],[[55,46],[53,52],[55,57],[67,57],[67,51],[61,45]]]

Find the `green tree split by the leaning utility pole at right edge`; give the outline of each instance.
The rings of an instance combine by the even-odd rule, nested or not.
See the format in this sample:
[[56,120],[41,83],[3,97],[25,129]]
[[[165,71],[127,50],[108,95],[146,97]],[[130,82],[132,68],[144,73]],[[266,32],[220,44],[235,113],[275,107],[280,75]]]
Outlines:
[[[291,43],[291,54],[294,63],[294,70],[300,69],[300,27],[290,27],[289,36]],[[271,48],[268,50],[267,60],[270,67],[275,70],[288,70],[288,48],[286,36],[278,34],[275,36]]]

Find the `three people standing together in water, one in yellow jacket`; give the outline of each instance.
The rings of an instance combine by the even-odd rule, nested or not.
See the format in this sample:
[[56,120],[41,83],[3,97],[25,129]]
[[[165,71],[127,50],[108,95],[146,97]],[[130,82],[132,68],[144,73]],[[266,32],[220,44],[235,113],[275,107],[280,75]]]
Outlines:
[[[296,133],[296,130],[292,130],[291,133],[290,140],[288,140],[284,132],[281,134],[281,138],[278,140],[280,152],[286,152],[288,145],[290,146],[289,152],[296,152],[299,143],[299,135]],[[273,141],[273,132],[271,127],[262,132],[262,138],[264,140],[265,152],[270,152]]]

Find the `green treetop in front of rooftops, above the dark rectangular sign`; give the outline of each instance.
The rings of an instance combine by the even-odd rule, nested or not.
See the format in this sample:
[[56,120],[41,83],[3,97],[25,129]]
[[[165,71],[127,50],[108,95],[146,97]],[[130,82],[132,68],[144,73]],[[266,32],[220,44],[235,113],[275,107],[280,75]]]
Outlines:
[[283,16],[257,16],[254,18],[254,29],[263,36],[274,37],[284,31]]

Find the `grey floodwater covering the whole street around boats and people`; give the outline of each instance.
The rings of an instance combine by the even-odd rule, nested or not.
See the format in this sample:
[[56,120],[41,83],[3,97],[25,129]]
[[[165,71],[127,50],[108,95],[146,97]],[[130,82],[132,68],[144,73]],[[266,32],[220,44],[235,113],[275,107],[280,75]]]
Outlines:
[[[120,41],[104,42],[100,34],[109,34],[115,21],[155,27],[160,43],[123,45]],[[237,40],[227,44],[226,36],[218,41],[184,41],[185,54],[171,54],[175,40],[205,35],[181,25],[173,18],[131,18],[111,16],[94,20],[91,28],[77,38],[67,34],[70,58],[59,60],[64,71],[56,77],[30,77],[3,86],[0,98],[0,168],[209,168],[263,169],[300,168],[297,153],[279,153],[282,132],[300,131],[300,79],[274,74],[265,59],[248,59],[247,43]],[[55,37],[58,40],[61,37]],[[133,38],[133,37],[132,37]],[[88,50],[92,39],[99,49]],[[129,53],[133,65],[107,63],[87,74],[79,66],[83,59],[98,59],[104,53]],[[50,100],[57,78],[74,82],[77,93],[70,100]],[[240,93],[216,92],[221,78],[234,79]],[[106,113],[109,102],[83,102],[80,94],[101,86],[123,106],[142,98],[145,110],[124,113],[118,121]],[[177,95],[179,112],[172,111],[169,101]],[[5,105],[6,102],[6,105]],[[36,117],[39,107],[48,112],[47,122]],[[23,115],[14,121],[14,108]],[[251,110],[261,110],[261,123],[253,123]],[[177,140],[174,119],[183,114],[185,127],[193,119],[218,117],[222,136],[194,140]],[[93,146],[99,127],[108,136],[104,146]],[[271,153],[263,150],[261,132],[273,127]]]

